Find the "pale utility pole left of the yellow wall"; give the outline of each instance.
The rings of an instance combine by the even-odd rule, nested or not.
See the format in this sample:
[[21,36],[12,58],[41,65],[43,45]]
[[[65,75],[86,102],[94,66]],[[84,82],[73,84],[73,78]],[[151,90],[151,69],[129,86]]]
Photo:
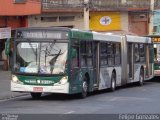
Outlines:
[[89,30],[89,0],[84,0],[84,29]]

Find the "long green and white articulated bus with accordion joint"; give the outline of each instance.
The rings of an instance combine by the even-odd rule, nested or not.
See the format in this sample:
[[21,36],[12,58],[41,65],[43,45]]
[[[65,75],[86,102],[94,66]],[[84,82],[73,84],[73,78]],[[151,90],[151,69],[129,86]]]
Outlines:
[[14,38],[11,91],[79,93],[110,89],[153,77],[148,37],[70,28],[19,28]]

